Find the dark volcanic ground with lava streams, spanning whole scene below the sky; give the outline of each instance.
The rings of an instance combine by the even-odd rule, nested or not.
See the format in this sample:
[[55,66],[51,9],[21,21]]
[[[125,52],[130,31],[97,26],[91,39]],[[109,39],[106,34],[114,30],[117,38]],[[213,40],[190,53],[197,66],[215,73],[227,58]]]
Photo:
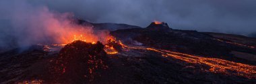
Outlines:
[[123,44],[74,41],[60,51],[34,45],[0,53],[0,83],[256,83],[256,39],[176,30],[167,23],[146,28],[88,23],[110,29]]

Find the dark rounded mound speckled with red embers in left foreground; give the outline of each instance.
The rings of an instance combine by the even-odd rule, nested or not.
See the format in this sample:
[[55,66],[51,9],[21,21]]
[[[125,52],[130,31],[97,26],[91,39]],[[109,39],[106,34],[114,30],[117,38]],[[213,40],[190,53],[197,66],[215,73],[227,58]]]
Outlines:
[[65,45],[53,65],[57,83],[88,83],[100,77],[106,65],[104,45],[74,41]]

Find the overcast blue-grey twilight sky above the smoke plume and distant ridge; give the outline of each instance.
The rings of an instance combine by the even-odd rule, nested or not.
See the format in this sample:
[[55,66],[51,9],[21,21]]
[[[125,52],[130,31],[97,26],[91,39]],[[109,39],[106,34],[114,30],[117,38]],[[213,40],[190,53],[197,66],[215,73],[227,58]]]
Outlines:
[[7,27],[11,13],[46,7],[93,23],[146,27],[156,20],[174,29],[248,35],[256,32],[255,4],[255,0],[1,0],[0,27]]

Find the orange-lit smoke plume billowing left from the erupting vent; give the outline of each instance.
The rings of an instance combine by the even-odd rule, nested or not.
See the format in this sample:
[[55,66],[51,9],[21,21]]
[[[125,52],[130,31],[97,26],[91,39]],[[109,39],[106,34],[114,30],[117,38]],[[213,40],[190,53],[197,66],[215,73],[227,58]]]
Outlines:
[[[1,5],[5,3],[8,1]],[[72,13],[50,11],[45,6],[34,7],[26,1],[15,1],[11,4],[14,9],[4,10],[5,18],[1,18],[6,23],[1,25],[1,49],[26,47],[37,43],[70,43],[74,35],[83,35],[81,37],[86,38],[87,42],[96,42],[108,36],[107,32],[95,35],[92,27],[76,25],[72,21]]]

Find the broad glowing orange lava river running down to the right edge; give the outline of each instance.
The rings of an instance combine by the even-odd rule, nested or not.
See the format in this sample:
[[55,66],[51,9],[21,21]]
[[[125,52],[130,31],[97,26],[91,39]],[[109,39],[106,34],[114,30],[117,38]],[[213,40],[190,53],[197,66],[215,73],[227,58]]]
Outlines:
[[[247,65],[243,63],[235,63],[232,61],[226,61],[224,59],[207,58],[195,55],[189,55],[185,53],[178,53],[174,51],[167,51],[162,49],[153,49],[145,47],[129,47],[131,49],[145,49],[150,51],[155,51],[161,53],[163,57],[180,59],[181,61],[186,61],[187,63],[207,65],[210,69],[202,69],[204,71],[210,71],[213,73],[224,73],[226,75],[238,75],[242,77],[247,77],[249,79],[256,79],[256,66]],[[185,63],[182,63],[183,65]]]

